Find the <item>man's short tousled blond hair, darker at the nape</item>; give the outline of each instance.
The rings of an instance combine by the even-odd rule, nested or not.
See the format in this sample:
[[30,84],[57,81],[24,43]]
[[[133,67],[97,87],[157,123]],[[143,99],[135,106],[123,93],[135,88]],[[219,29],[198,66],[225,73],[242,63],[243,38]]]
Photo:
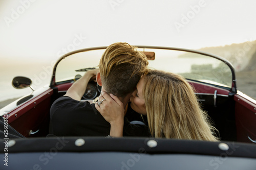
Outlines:
[[102,86],[108,93],[123,97],[135,90],[141,76],[147,71],[144,53],[126,42],[108,46],[99,63]]

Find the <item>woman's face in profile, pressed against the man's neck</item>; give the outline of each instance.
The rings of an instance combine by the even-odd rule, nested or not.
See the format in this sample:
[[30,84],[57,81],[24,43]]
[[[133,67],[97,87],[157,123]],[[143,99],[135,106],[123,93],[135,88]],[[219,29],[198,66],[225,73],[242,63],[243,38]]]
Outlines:
[[134,111],[137,113],[146,115],[146,107],[145,107],[145,101],[142,95],[142,88],[144,85],[144,77],[140,79],[136,86],[136,90],[132,93],[130,97],[131,101],[131,107]]

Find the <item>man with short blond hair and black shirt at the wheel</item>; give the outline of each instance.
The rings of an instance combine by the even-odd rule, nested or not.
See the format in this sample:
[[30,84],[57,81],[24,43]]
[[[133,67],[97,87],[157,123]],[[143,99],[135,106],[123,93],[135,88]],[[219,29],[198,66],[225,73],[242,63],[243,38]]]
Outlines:
[[[108,46],[97,69],[87,71],[50,110],[50,134],[57,136],[108,136],[110,124],[95,104],[80,102],[88,82],[96,75],[102,91],[115,94],[125,107],[141,76],[147,71],[146,56],[134,46],[117,42]],[[99,101],[99,104],[104,101]],[[149,136],[148,127],[133,125],[124,118],[124,136]]]

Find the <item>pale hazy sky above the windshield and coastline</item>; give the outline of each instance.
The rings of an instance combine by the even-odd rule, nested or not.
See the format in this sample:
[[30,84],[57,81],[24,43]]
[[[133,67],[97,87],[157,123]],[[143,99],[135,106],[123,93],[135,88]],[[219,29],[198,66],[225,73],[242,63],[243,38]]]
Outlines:
[[255,40],[253,0],[1,0],[0,59],[50,61],[114,42],[198,49]]

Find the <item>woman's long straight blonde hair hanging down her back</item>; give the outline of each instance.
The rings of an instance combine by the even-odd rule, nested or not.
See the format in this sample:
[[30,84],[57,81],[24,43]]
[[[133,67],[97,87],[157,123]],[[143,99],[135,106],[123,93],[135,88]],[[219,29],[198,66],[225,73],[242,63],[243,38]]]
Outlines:
[[210,126],[207,113],[182,76],[148,70],[142,93],[148,126],[154,137],[218,141],[212,135],[217,130]]

